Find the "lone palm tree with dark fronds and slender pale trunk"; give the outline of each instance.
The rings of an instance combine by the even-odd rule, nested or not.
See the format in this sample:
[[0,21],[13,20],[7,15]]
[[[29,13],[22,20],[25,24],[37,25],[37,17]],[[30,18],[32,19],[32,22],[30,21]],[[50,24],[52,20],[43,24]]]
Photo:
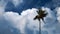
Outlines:
[[42,21],[45,23],[44,21],[44,17],[46,17],[46,15],[48,13],[46,13],[45,11],[43,11],[42,9],[39,9],[37,11],[38,15],[34,17],[34,20],[38,19],[39,21],[39,32],[41,33],[41,23],[40,23],[40,19],[42,19]]

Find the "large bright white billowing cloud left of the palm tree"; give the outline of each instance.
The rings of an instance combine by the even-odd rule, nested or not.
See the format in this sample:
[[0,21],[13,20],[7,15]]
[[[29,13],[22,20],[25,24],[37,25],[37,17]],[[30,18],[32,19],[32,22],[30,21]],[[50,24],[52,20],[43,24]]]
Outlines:
[[38,20],[34,21],[33,18],[37,15],[36,13],[37,9],[32,8],[32,9],[27,9],[25,11],[22,11],[21,15],[18,13],[14,12],[6,12],[4,14],[4,17],[7,21],[10,21],[13,25],[13,27],[16,27],[21,30],[21,33],[25,34],[25,27],[26,24],[28,23],[27,27],[29,29],[34,29],[34,26],[36,27],[35,29],[38,31],[39,30],[39,22]]

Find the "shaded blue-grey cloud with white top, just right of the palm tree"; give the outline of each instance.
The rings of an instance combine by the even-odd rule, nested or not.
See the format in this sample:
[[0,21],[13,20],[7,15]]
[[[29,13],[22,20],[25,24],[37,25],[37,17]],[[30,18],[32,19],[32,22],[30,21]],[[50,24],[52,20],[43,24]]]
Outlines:
[[[55,14],[55,11],[52,11],[49,8],[44,8],[44,10],[46,10],[48,12],[47,17],[45,17],[45,22],[46,24],[43,24],[43,26],[41,27],[41,33],[42,34],[53,34],[54,32],[52,32],[55,28],[56,28],[56,23],[57,23],[57,17]],[[42,25],[42,24],[41,24]]]

